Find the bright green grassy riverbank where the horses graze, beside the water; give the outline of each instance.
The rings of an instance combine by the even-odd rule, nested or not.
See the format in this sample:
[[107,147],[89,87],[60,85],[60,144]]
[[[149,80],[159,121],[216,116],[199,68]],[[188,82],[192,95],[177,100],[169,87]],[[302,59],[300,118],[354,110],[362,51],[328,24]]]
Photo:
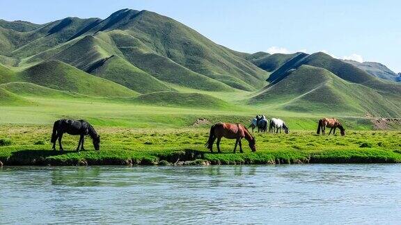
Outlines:
[[203,144],[207,128],[99,128],[101,150],[86,138],[77,153],[78,137],[65,135],[66,151],[52,151],[49,126],[0,128],[3,165],[228,165],[276,163],[401,163],[400,131],[347,131],[318,136],[315,131],[290,135],[255,133],[258,151],[244,141],[244,153],[232,153],[234,140],[222,140],[223,153],[209,153]]

